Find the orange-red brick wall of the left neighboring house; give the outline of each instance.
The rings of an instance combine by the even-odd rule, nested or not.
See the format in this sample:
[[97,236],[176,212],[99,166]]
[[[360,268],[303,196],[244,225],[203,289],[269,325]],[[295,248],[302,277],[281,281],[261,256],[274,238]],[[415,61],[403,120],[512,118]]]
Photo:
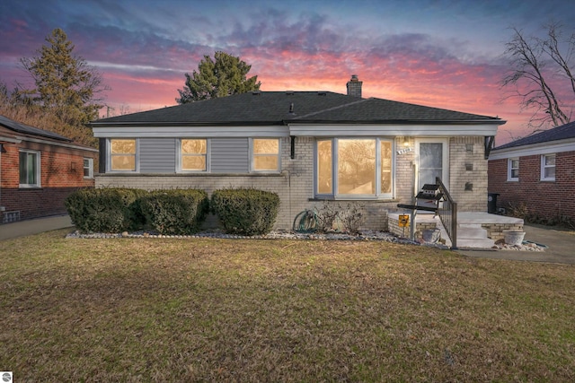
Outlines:
[[[19,187],[19,149],[23,148],[40,151],[40,188]],[[84,158],[95,159],[97,152],[23,142],[4,144],[4,149],[0,206],[6,212],[20,212],[21,220],[64,214],[66,196],[78,188],[94,186],[93,178],[84,178]]]

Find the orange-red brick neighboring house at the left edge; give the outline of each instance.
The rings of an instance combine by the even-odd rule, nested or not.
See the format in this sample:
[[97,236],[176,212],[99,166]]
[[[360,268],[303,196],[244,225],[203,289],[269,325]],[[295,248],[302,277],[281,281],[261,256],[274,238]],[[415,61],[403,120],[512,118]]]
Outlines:
[[0,223],[65,214],[64,200],[93,187],[98,150],[0,116]]

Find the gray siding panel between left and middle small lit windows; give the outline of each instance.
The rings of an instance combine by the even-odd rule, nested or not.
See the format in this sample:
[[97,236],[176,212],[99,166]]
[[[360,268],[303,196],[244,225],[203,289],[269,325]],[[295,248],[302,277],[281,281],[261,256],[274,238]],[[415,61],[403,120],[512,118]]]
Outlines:
[[175,173],[176,140],[140,138],[139,159],[140,173]]

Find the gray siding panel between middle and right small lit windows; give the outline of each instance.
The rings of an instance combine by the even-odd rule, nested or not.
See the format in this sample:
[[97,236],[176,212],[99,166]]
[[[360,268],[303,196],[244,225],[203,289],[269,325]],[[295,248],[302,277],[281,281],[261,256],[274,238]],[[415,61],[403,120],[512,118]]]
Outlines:
[[247,138],[211,138],[210,171],[212,173],[247,173],[250,152]]

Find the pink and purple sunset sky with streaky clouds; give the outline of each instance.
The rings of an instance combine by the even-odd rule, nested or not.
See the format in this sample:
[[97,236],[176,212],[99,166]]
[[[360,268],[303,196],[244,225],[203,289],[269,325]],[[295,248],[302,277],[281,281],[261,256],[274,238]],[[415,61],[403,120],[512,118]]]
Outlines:
[[571,1],[3,0],[0,81],[30,84],[18,65],[55,28],[111,87],[119,114],[175,105],[185,73],[223,50],[252,65],[261,91],[345,93],[454,109],[508,121],[496,144],[525,135],[530,113],[500,80],[512,35],[547,22],[573,31]]

